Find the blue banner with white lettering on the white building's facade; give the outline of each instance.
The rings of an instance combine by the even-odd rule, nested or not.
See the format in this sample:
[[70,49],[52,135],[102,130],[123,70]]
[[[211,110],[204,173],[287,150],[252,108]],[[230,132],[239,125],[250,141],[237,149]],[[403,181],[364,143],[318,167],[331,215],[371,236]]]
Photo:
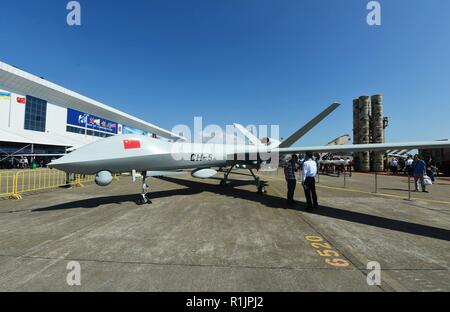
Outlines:
[[67,124],[117,134],[118,124],[110,120],[82,113],[74,109],[67,109]]

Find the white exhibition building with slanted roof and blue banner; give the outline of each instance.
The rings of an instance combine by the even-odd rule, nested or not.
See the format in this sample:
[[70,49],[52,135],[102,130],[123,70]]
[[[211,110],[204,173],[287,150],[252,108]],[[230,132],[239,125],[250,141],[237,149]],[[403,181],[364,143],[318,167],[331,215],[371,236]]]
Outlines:
[[0,62],[0,168],[17,161],[48,163],[117,134],[170,138],[139,118]]

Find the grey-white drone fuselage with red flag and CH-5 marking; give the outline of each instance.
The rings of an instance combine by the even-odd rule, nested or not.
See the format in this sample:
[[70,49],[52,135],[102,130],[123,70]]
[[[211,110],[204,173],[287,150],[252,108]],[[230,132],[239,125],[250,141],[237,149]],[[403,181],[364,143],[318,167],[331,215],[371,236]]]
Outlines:
[[[50,167],[77,174],[226,167],[260,163],[260,150],[252,145],[173,143],[147,136],[121,135],[83,146],[53,161]],[[229,159],[228,155],[235,156]]]

